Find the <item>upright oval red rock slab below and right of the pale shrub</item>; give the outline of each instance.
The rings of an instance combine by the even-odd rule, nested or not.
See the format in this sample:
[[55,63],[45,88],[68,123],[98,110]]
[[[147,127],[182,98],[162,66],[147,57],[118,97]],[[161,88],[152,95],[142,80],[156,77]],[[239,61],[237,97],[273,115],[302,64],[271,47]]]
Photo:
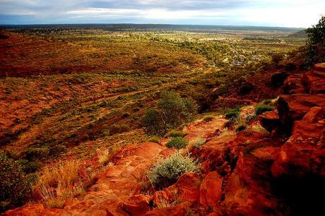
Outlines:
[[200,203],[215,207],[222,195],[223,179],[217,172],[210,172],[203,179],[200,186]]

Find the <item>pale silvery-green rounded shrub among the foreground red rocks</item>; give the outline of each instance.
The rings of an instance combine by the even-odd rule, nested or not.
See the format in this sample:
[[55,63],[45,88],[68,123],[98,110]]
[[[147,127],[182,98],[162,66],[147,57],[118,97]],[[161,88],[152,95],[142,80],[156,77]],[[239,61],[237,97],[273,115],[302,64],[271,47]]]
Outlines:
[[165,188],[174,184],[185,172],[199,172],[199,164],[179,153],[159,160],[148,172],[148,179],[155,188]]

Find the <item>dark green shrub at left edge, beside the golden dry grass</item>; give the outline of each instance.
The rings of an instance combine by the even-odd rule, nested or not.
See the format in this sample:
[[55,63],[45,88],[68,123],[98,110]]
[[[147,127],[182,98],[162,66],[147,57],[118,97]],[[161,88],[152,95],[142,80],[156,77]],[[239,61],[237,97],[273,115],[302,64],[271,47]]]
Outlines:
[[0,212],[8,206],[23,205],[32,191],[32,181],[18,162],[0,151]]

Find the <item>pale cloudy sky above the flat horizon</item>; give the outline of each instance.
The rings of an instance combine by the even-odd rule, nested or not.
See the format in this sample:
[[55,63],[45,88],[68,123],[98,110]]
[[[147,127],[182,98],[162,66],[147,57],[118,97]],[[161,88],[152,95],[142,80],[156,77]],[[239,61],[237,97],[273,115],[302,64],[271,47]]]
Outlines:
[[155,23],[307,28],[325,0],[0,0],[0,24]]

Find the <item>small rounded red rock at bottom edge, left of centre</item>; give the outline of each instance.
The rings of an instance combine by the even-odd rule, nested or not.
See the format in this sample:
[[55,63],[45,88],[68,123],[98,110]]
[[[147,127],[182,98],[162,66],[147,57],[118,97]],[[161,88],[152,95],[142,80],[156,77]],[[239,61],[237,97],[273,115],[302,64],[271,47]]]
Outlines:
[[144,215],[148,210],[149,198],[138,194],[122,203],[122,209],[131,215]]

